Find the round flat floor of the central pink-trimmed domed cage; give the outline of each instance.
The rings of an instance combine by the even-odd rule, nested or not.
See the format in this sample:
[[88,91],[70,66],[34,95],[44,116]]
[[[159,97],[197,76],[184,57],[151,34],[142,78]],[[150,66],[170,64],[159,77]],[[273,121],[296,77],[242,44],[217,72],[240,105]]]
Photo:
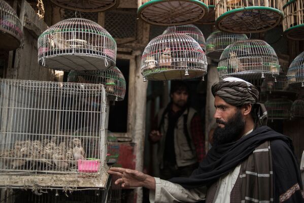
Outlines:
[[187,80],[199,78],[207,74],[204,70],[188,69],[189,76],[185,76],[185,70],[166,70],[153,72],[146,75],[147,80]]

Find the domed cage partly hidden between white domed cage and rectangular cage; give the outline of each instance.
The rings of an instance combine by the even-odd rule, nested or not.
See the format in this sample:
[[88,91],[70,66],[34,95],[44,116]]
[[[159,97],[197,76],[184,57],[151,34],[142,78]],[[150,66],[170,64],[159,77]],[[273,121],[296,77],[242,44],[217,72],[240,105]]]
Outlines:
[[107,71],[71,71],[67,82],[103,84],[110,100],[123,100],[126,92],[126,81],[116,66]]

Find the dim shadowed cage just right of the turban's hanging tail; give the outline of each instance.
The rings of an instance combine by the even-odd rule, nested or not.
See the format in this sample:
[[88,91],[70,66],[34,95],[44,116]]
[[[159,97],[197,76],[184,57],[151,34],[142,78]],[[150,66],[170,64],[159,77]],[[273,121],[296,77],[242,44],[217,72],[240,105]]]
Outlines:
[[292,101],[284,98],[269,99],[264,103],[268,119],[289,119]]

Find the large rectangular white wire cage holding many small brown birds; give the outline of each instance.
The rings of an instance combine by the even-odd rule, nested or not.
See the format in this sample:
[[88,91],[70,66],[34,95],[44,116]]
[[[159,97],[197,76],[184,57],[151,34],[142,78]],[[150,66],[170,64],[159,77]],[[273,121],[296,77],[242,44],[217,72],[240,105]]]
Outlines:
[[0,187],[102,187],[103,85],[1,79],[0,118]]

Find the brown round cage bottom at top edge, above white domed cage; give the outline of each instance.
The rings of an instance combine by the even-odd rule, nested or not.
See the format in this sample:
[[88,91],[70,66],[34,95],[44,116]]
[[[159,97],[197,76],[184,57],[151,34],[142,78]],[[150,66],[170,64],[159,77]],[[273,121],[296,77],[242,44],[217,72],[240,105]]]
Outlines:
[[102,12],[116,8],[119,5],[119,0],[51,0],[55,5],[64,9],[70,9],[81,12]]

